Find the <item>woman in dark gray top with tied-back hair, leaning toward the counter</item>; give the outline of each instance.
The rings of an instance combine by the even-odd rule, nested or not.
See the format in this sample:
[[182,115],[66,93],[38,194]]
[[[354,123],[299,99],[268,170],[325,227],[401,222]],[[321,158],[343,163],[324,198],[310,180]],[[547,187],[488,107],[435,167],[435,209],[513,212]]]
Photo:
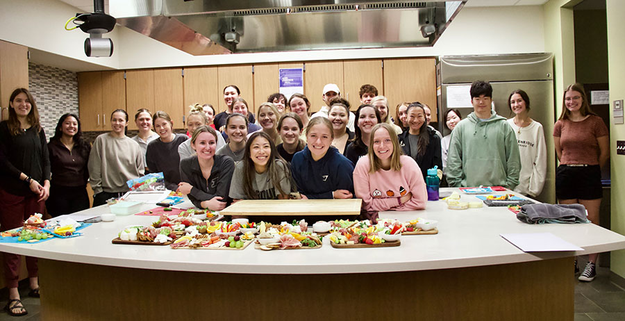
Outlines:
[[174,122],[164,111],[154,113],[153,120],[154,131],[160,137],[149,143],[145,159],[151,172],[163,172],[165,187],[176,190],[180,183],[178,147],[189,138],[185,134],[174,133]]

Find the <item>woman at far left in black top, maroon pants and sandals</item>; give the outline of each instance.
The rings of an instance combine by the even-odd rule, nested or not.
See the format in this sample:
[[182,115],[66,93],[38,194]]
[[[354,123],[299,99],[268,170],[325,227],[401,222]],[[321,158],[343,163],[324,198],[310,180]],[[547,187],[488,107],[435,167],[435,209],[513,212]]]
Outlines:
[[[8,120],[0,122],[0,226],[22,227],[33,213],[43,213],[50,190],[50,160],[46,134],[40,126],[35,99],[25,88],[13,90]],[[9,289],[8,314],[28,313],[19,298],[17,281],[21,258],[4,253],[4,277]],[[26,257],[31,297],[39,297],[37,258]]]

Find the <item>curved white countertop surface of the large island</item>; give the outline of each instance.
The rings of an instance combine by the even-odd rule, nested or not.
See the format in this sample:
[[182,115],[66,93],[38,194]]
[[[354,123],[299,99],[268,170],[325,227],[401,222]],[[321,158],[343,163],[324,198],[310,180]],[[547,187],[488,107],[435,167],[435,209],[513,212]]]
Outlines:
[[[456,189],[449,189],[456,190]],[[476,201],[462,195],[463,201]],[[142,211],[156,207],[145,204]],[[81,214],[108,213],[106,206]],[[531,225],[505,207],[453,211],[444,201],[428,201],[424,211],[383,212],[381,218],[438,220],[437,235],[402,236],[401,246],[376,249],[335,249],[324,239],[321,249],[265,252],[250,245],[243,250],[170,249],[168,246],[114,245],[117,233],[131,224],[150,224],[156,216],[118,216],[81,230],[83,236],[41,244],[0,243],[10,252],[59,261],[126,268],[254,274],[328,274],[437,270],[536,261],[547,258],[625,249],[625,236],[594,224]],[[312,226],[314,222],[308,222]],[[501,233],[549,232],[582,247],[580,252],[524,253]]]

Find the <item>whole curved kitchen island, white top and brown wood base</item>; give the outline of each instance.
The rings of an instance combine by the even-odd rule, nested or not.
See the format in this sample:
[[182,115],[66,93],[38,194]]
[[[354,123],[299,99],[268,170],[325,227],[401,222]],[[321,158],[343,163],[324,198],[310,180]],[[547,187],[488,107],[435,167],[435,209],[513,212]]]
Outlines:
[[[462,195],[462,200],[475,200],[475,197]],[[144,210],[153,207],[153,204],[146,204]],[[100,206],[86,212],[106,213],[107,208]],[[421,304],[425,302],[439,306],[429,314],[433,317],[449,316],[450,311],[455,311],[454,309],[462,314],[471,312],[476,320],[481,317],[487,318],[487,315],[492,317],[490,313],[499,310],[483,306],[479,302],[503,300],[500,304],[501,313],[506,313],[506,316],[501,318],[506,320],[524,320],[542,312],[545,318],[551,318],[550,320],[567,320],[572,319],[573,313],[572,256],[625,248],[625,236],[594,224],[530,225],[520,222],[514,213],[501,207],[453,211],[447,209],[444,201],[428,201],[425,211],[383,212],[380,213],[380,217],[397,218],[401,221],[416,217],[438,220],[440,232],[437,235],[403,236],[399,247],[376,249],[335,249],[329,245],[327,238],[324,239],[324,246],[321,249],[271,252],[254,249],[253,245],[239,251],[228,251],[174,250],[167,246],[111,244],[111,240],[127,225],[149,224],[158,219],[153,216],[133,215],[117,217],[115,222],[94,224],[82,230],[84,236],[78,238],[52,240],[38,245],[0,244],[0,251],[43,259],[40,260],[42,308],[44,317],[47,318],[45,313],[48,313],[51,319],[58,317],[71,320],[67,319],[65,307],[68,300],[77,303],[72,305],[72,313],[80,312],[78,315],[83,317],[84,313],[88,313],[90,318],[93,317],[93,313],[97,313],[82,310],[83,304],[91,302],[90,299],[83,298],[83,295],[88,297],[83,290],[74,288],[75,292],[68,294],[67,291],[58,290],[59,283],[67,284],[72,283],[72,280],[80,280],[83,286],[88,284],[89,288],[95,288],[99,293],[108,293],[105,296],[110,298],[123,293],[128,293],[132,297],[131,293],[136,293],[138,290],[134,288],[137,287],[142,287],[148,292],[151,288],[154,290],[163,288],[158,281],[152,281],[173,278],[184,284],[183,288],[190,286],[190,289],[213,289],[215,286],[217,288],[226,286],[226,289],[230,289],[227,284],[234,284],[237,289],[242,287],[249,290],[250,294],[256,294],[252,295],[251,306],[256,304],[273,306],[276,302],[267,301],[267,291],[269,293],[278,291],[277,293],[284,293],[285,296],[280,295],[279,299],[276,299],[277,302],[296,306],[303,304],[304,311],[315,306],[331,307],[333,302],[322,299],[311,303],[297,296],[292,297],[293,290],[290,288],[294,286],[293,283],[308,284],[317,290],[323,290],[319,295],[324,295],[328,287],[342,284],[340,288],[347,290],[346,295],[349,296],[351,290],[348,289],[359,293],[358,288],[363,286],[370,288],[380,282],[387,285],[388,282],[399,281],[412,284],[405,289],[411,295],[408,299],[385,301],[385,304],[402,306],[411,302],[417,303],[412,301],[414,297],[414,300]],[[310,225],[312,223],[309,222]],[[553,233],[582,247],[584,251],[524,253],[499,236],[500,233],[537,232]],[[244,280],[247,279],[253,281],[246,283]],[[115,282],[111,282],[112,280]],[[178,281],[176,284],[180,285]],[[361,286],[359,283],[363,282]],[[203,284],[210,286],[205,287]],[[373,288],[379,289],[380,286]],[[419,291],[424,288],[427,291]],[[222,288],[219,289],[220,293],[224,292]],[[312,290],[308,287],[306,289],[304,293],[310,293]],[[386,291],[387,289],[383,292]],[[399,290],[400,293],[402,291],[404,290]],[[50,293],[54,295],[49,295]],[[299,293],[299,290],[295,293]],[[524,302],[522,305],[533,304],[532,311],[515,309],[517,301],[515,297],[529,293],[531,293],[530,302]],[[127,306],[128,295],[123,295],[123,299],[115,304]],[[445,304],[441,301],[440,295],[454,300],[456,308],[451,310],[443,308]],[[469,299],[468,295],[474,297]],[[158,296],[151,293],[148,297],[157,300]],[[506,301],[506,298],[509,301]],[[231,306],[227,299],[223,302],[218,301]],[[134,305],[145,308],[156,303],[145,297],[133,300]],[[347,298],[342,304],[348,306],[353,304],[353,307],[361,308],[363,318],[374,315],[379,318],[385,316],[375,310],[364,308],[362,302],[356,298]],[[132,308],[135,307],[128,306],[128,310]],[[158,308],[158,304],[155,308]],[[120,311],[124,310],[121,308]],[[108,310],[103,307],[102,313],[104,311]],[[249,314],[239,312],[241,314],[238,316],[242,317]],[[508,313],[514,313],[515,317],[508,319],[512,317],[512,314]],[[223,313],[217,315],[228,317]],[[123,314],[118,316],[124,318]],[[254,314],[248,316],[253,317]],[[310,317],[312,318],[312,315]],[[553,319],[554,317],[556,319]]]

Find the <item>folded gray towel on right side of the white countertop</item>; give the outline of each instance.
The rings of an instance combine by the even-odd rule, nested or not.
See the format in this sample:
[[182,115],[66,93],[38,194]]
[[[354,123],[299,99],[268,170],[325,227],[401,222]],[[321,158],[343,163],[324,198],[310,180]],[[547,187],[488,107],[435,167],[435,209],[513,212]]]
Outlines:
[[521,207],[517,218],[528,224],[590,222],[582,204],[528,204]]

